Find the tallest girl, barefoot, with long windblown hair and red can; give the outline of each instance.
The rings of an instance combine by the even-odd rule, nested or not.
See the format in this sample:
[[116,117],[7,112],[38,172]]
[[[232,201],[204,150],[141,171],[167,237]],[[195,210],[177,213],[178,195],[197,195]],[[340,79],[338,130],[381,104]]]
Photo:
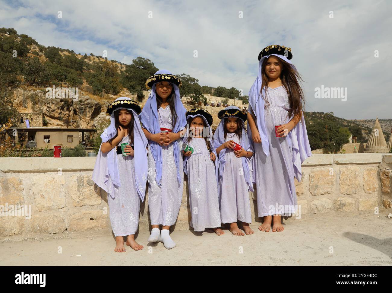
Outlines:
[[[265,47],[259,54],[258,76],[249,91],[248,131],[254,142],[254,180],[260,231],[283,231],[281,215],[298,209],[294,177],[312,155],[305,120],[301,77],[290,59],[291,48]],[[277,130],[275,130],[277,126]],[[280,137],[281,136],[281,137]]]

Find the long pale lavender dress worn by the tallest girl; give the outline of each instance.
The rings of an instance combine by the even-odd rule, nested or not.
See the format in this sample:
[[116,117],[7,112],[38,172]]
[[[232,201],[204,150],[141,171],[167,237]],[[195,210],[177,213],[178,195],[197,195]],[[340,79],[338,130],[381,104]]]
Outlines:
[[[261,143],[254,144],[254,172],[259,217],[275,214],[289,215],[295,212],[297,205],[292,147],[289,146],[287,136],[275,136],[275,125],[286,124],[290,121],[287,117],[290,109],[289,98],[283,86],[274,89],[268,87],[266,93],[266,99],[270,104],[264,110],[269,156],[267,157],[263,152]],[[252,109],[249,108],[249,110],[253,114]]]

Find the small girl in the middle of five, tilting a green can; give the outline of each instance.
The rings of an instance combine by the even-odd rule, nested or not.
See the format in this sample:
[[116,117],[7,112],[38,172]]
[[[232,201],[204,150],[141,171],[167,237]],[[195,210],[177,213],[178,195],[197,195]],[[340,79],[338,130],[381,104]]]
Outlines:
[[184,172],[188,176],[189,184],[191,227],[199,232],[204,231],[205,228],[213,228],[216,235],[220,236],[225,233],[220,229],[219,163],[216,160],[216,151],[212,142],[212,116],[203,109],[191,109],[185,115],[187,131],[183,144],[193,149],[193,152],[192,150],[183,151]]

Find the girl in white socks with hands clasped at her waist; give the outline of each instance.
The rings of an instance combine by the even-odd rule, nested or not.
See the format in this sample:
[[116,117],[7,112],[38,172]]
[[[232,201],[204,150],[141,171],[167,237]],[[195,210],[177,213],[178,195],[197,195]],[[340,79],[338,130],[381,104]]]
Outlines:
[[[180,98],[181,81],[167,70],[158,70],[146,81],[152,88],[140,121],[148,143],[148,206],[151,221],[149,242],[161,241],[165,248],[176,244],[169,236],[180,211],[183,192],[181,131],[187,124]],[[159,230],[162,225],[162,231]]]

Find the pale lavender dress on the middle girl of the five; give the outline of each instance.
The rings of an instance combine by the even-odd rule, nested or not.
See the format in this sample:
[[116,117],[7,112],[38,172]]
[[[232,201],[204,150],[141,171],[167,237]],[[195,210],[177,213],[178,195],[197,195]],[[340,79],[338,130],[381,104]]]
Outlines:
[[[204,138],[192,138],[194,149],[187,160],[191,227],[194,231],[221,226],[215,165]],[[216,158],[218,160],[218,158]]]

